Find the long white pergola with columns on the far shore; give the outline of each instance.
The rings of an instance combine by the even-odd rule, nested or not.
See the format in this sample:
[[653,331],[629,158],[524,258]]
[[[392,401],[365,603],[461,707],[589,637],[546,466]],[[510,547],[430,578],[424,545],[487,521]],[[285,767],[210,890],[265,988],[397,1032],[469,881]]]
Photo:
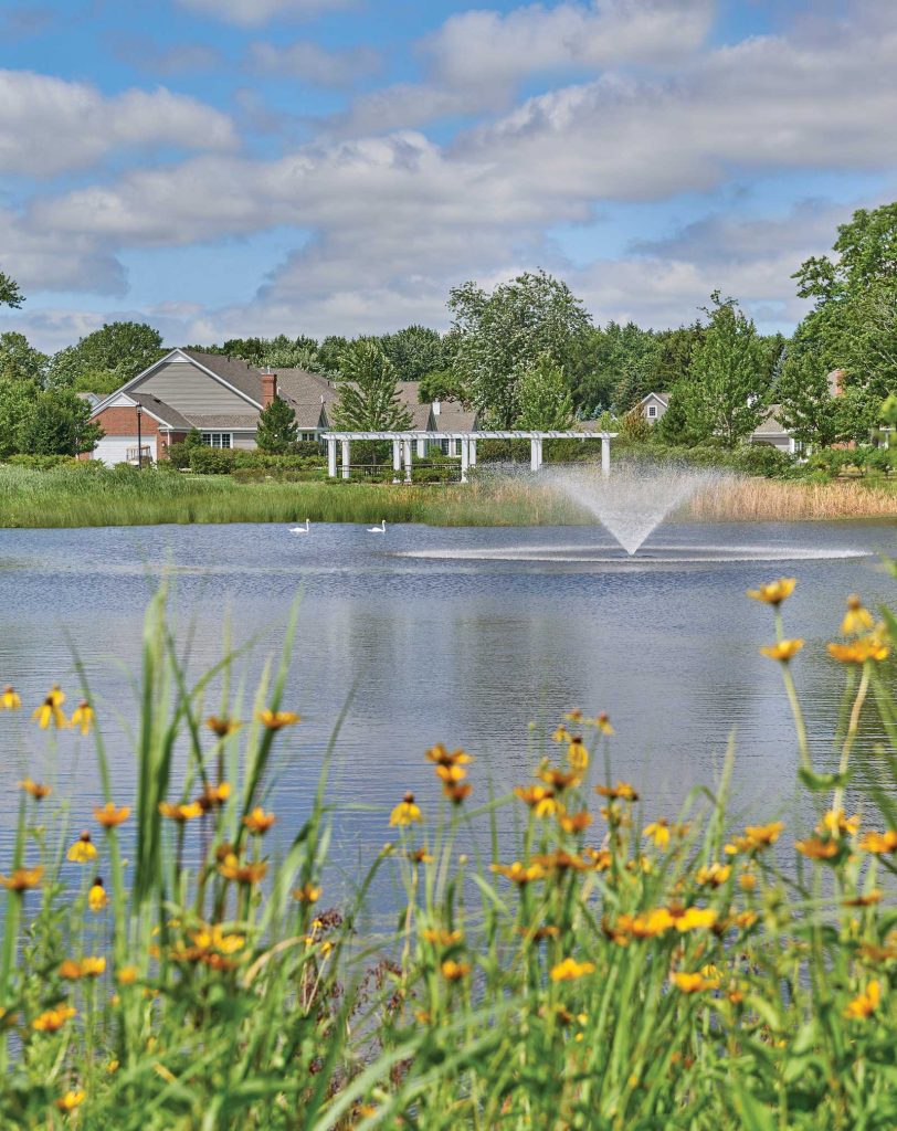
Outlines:
[[405,470],[405,482],[411,483],[413,447],[416,444],[417,457],[426,456],[429,441],[460,440],[462,483],[467,482],[467,472],[476,466],[477,440],[528,440],[529,466],[534,472],[542,467],[542,443],[544,440],[601,440],[601,469],[605,475],[611,472],[611,440],[616,432],[325,432],[321,439],[327,441],[327,474],[331,480],[337,477],[336,446],[340,444],[342,475],[350,477],[351,446],[353,440],[388,440],[393,444],[393,470],[395,482],[399,482],[400,473]]

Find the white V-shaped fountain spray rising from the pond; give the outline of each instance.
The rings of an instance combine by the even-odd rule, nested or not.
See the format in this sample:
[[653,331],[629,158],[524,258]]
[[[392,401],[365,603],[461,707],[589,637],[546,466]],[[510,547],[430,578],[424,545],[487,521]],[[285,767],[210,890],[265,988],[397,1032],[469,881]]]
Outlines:
[[551,485],[601,521],[632,556],[666,516],[698,491],[719,482],[717,470],[675,464],[618,463],[611,475],[586,468],[549,472]]

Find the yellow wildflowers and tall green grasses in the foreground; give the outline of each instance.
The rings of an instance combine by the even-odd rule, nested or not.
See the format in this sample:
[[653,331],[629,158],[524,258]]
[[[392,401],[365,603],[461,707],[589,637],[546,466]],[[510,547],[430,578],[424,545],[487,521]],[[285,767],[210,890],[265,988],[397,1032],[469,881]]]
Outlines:
[[[820,774],[790,668],[802,641],[780,616],[793,586],[751,596],[775,611],[762,650],[794,709],[817,814],[803,836],[728,827],[731,749],[713,793],[696,791],[675,820],[646,798],[642,815],[632,785],[596,774],[607,716],[572,710],[508,798],[486,800],[464,751],[428,751],[442,812],[406,794],[394,838],[329,910],[326,763],[308,820],[281,858],[268,851],[275,752],[300,733],[282,701],[292,629],[248,705],[230,692],[228,659],[188,685],[157,595],[137,795],[120,795],[96,727],[103,792],[79,837],[43,778],[79,741],[66,732],[94,728],[89,690],[67,717],[51,689],[28,722],[8,688],[7,743],[27,750],[40,726],[50,757],[41,782],[21,783],[2,881],[2,1125],[891,1129],[897,806],[871,791],[861,820],[844,795],[866,700],[894,782],[897,622],[848,602],[829,645],[847,673],[838,766]],[[514,837],[498,831],[507,805],[523,818]],[[355,925],[382,870],[399,881],[395,932],[364,938]]]

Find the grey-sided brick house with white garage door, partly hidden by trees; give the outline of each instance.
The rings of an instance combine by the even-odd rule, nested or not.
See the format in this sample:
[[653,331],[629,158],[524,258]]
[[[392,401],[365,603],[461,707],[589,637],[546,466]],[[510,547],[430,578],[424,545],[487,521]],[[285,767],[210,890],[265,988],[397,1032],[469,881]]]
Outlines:
[[[399,387],[413,430],[452,431],[460,428],[460,421],[473,421],[473,414],[454,404],[421,404],[419,390],[417,381],[403,381]],[[85,458],[136,464],[139,434],[141,460],[156,461],[192,429],[212,448],[253,449],[259,414],[275,397],[295,413],[299,439],[319,441],[330,428],[338,396],[334,381],[304,369],[262,372],[240,357],[171,349],[94,405],[92,420],[105,434]],[[426,442],[421,443],[425,448]],[[448,443],[446,440],[445,446]],[[419,448],[419,454],[423,456],[425,450]]]

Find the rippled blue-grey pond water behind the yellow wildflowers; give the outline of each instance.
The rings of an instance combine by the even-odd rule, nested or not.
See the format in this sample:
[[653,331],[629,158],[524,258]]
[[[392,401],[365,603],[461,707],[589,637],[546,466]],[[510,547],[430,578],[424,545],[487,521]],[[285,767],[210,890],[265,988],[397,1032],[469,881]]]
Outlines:
[[[281,740],[271,806],[294,831],[308,809],[338,713],[329,797],[335,864],[387,839],[386,813],[406,789],[434,804],[423,751],[434,742],[476,756],[473,779],[506,791],[535,759],[533,722],[563,711],[607,710],[613,772],[636,783],[646,811],[673,815],[688,789],[711,783],[736,733],[735,802],[771,819],[795,797],[795,743],[778,666],[758,654],[771,615],[744,590],[796,576],[787,631],[807,639],[794,665],[819,767],[831,766],[840,676],[825,653],[849,593],[894,602],[878,559],[895,549],[892,525],[666,524],[642,555],[627,559],[600,527],[430,528],[172,526],[0,532],[0,682],[34,705],[48,685],[77,697],[67,633],[84,657],[111,732],[119,800],[132,794],[133,717],[124,668],[139,662],[141,620],[162,571],[174,577],[191,671],[221,655],[230,619],[235,645],[259,636],[247,661],[255,679],[283,640],[302,592],[300,629],[284,706],[303,716]],[[5,724],[8,725],[8,724]],[[34,739],[31,726],[25,728]],[[856,753],[859,777],[879,762],[870,713]],[[84,819],[98,796],[89,745],[60,744],[58,791]],[[15,782],[25,761],[7,751],[0,838],[8,855]],[[374,808],[355,808],[359,804]],[[380,806],[379,809],[377,806]]]

